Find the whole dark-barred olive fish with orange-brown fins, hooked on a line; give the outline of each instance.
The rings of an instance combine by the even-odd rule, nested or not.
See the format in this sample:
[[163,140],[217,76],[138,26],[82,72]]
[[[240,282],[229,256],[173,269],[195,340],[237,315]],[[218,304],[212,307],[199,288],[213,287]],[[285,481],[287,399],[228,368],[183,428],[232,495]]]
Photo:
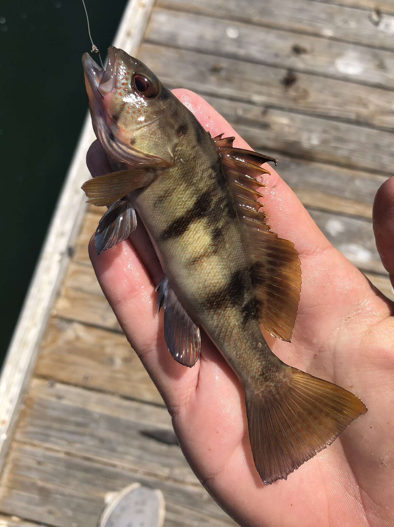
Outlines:
[[[97,253],[129,237],[137,216],[163,270],[157,309],[174,359],[193,367],[203,329],[241,381],[249,441],[265,484],[287,479],[359,415],[344,388],[283,363],[262,329],[290,341],[301,291],[291,241],[262,209],[262,168],[276,160],[212,137],[147,66],[110,47],[103,70],[82,57],[92,125],[113,172],[85,182],[107,206]],[[267,166],[267,165],[266,165]]]

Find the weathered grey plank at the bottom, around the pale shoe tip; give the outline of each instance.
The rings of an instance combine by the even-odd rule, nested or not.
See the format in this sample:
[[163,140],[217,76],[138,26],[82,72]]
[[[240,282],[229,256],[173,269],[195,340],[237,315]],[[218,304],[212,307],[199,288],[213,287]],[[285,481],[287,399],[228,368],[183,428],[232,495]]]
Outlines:
[[105,495],[139,482],[162,491],[165,527],[235,525],[202,486],[14,443],[0,487],[0,511],[54,527],[96,527]]

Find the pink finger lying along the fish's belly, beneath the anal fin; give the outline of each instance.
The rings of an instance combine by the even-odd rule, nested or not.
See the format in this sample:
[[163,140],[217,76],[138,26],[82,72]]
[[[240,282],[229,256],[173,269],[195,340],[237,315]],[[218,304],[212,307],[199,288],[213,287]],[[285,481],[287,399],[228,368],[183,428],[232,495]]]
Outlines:
[[105,297],[129,343],[170,409],[185,404],[195,386],[199,362],[193,368],[178,364],[164,340],[162,310],[156,313],[155,286],[136,248],[125,240],[97,255],[94,241],[89,256]]

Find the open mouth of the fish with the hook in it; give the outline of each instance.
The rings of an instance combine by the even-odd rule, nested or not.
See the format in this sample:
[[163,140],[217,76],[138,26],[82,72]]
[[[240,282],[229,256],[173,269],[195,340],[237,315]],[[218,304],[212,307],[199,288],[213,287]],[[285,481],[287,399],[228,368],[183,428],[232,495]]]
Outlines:
[[94,62],[89,53],[82,55],[83,71],[95,97],[100,95],[102,98],[115,87],[117,52],[116,47],[110,46],[108,48],[108,62],[105,70]]

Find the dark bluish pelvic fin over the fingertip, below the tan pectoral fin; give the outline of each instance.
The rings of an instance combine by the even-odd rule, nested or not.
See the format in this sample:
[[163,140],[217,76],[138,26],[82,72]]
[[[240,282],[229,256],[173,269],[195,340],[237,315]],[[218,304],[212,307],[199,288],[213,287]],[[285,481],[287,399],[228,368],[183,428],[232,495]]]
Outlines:
[[137,227],[136,211],[128,199],[122,198],[111,205],[99,222],[94,245],[99,255],[120,241],[126,240]]

